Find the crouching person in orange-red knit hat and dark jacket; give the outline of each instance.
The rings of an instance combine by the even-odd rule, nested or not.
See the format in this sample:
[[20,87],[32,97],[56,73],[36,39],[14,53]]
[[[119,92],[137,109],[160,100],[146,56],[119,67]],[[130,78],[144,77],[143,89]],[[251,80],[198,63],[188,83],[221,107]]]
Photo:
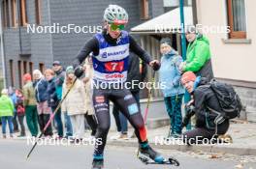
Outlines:
[[[222,112],[213,91],[209,88],[208,79],[198,76],[192,71],[186,71],[181,76],[181,83],[192,95],[191,101],[186,104],[189,110],[182,126],[186,126],[190,117],[195,114],[196,127],[183,133],[183,140],[188,144],[202,143],[203,139],[212,139],[225,134],[229,128],[229,120],[218,116],[210,109]],[[209,107],[209,108],[208,108]]]

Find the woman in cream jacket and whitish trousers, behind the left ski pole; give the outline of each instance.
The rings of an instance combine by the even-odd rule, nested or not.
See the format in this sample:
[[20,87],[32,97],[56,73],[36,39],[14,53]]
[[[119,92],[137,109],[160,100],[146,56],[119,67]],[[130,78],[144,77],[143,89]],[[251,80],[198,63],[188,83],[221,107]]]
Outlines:
[[[74,80],[74,69],[73,67],[68,67],[66,70],[66,78],[63,83],[62,97],[65,96],[68,90],[72,87]],[[73,135],[76,141],[80,141],[84,133],[84,114],[86,113],[84,102],[84,86],[82,81],[77,79],[67,98],[64,99],[61,105],[62,112],[67,112],[71,118]]]

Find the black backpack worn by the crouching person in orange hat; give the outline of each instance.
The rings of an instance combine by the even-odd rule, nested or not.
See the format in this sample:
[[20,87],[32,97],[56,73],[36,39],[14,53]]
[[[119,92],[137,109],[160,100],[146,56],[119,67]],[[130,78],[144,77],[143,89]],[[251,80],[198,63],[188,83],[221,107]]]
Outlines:
[[240,102],[239,95],[231,85],[212,79],[209,82],[209,88],[213,91],[214,95],[218,99],[225,119],[234,119],[240,117],[242,104]]

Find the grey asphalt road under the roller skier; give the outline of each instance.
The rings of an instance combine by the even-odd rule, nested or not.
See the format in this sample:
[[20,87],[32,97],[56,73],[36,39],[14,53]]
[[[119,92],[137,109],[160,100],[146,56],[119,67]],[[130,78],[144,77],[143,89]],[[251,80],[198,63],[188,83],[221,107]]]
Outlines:
[[[38,146],[31,157],[25,156],[32,145],[26,140],[0,139],[1,169],[90,169],[92,146]],[[168,155],[167,151],[160,151]],[[179,167],[167,165],[144,165],[136,158],[136,148],[109,146],[105,153],[105,169],[233,169],[240,163],[236,158],[219,159],[173,152]],[[243,169],[256,169],[256,163],[246,162]]]

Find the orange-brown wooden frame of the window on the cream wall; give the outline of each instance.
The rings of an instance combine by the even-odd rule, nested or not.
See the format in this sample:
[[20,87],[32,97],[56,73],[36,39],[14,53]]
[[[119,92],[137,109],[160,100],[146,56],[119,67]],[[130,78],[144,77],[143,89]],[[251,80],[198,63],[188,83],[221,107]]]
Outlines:
[[246,39],[246,31],[234,31],[234,16],[233,16],[232,0],[227,0],[227,11],[228,11],[228,24],[230,26],[229,39]]

